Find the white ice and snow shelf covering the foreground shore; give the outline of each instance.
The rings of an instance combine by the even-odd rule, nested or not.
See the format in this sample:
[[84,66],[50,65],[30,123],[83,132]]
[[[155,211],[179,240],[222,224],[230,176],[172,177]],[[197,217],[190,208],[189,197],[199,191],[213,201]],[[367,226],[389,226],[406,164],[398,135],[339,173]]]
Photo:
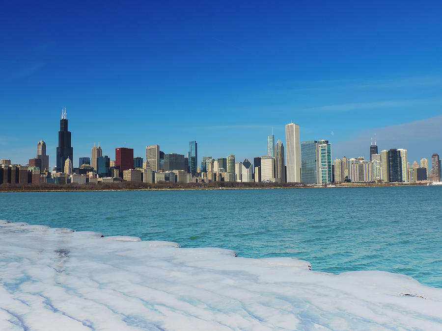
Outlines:
[[442,289],[380,271],[0,221],[0,330],[442,330]]

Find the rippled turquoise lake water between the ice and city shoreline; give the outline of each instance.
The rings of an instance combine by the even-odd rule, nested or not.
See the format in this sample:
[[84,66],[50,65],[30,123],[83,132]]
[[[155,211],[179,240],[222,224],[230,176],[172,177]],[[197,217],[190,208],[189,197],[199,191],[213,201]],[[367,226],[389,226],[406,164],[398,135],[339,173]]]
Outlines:
[[442,287],[442,187],[0,193],[0,219]]

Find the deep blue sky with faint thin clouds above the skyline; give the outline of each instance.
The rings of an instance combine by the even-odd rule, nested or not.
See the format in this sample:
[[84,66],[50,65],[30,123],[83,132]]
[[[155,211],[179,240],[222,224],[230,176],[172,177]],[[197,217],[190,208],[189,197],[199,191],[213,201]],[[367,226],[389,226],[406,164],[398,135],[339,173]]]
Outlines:
[[63,106],[75,166],[94,142],[242,161],[291,121],[333,159],[375,133],[442,155],[442,2],[158,2],[2,3],[0,157],[42,139],[52,165]]

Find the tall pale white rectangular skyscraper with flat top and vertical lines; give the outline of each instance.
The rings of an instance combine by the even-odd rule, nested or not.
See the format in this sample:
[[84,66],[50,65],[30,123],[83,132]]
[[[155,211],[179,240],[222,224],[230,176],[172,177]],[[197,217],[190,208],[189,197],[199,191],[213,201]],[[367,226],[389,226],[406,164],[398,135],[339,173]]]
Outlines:
[[285,126],[285,147],[287,150],[287,182],[301,182],[299,125],[289,123]]

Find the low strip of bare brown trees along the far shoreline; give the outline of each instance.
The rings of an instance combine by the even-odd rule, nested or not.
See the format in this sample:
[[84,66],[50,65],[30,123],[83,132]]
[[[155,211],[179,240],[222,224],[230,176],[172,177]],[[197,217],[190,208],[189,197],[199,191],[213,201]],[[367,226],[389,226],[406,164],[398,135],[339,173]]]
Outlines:
[[425,186],[425,183],[341,183],[328,185],[307,185],[303,183],[256,183],[214,181],[210,183],[143,183],[123,181],[105,184],[9,184],[0,185],[0,192],[52,192],[52,191],[130,191],[130,190],[197,190],[197,189],[272,189],[272,188],[332,188],[332,187],[391,187]]

